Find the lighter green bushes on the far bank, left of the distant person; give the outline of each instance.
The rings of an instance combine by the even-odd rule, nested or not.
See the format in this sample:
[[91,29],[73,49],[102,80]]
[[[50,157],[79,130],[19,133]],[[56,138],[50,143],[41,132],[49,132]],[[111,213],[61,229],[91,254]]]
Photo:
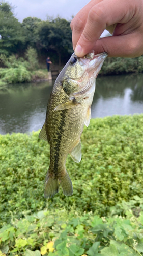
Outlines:
[[0,87],[10,83],[30,82],[38,78],[47,78],[47,71],[38,70],[37,52],[34,48],[26,50],[25,58],[16,58],[15,55],[6,57],[1,54],[1,62],[7,68],[0,68]]

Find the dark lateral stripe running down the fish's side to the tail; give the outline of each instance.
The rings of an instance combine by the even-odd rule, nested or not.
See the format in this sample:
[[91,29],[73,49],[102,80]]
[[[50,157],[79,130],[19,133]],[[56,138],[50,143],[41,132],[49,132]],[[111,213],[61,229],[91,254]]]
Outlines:
[[59,129],[56,133],[58,135],[58,138],[54,139],[55,146],[54,146],[54,168],[53,172],[55,174],[55,177],[58,175],[58,168],[59,168],[59,155],[60,155],[60,146],[61,146],[61,138],[62,134],[64,133],[64,127],[66,125],[66,113],[67,110],[62,110],[60,113],[60,124]]

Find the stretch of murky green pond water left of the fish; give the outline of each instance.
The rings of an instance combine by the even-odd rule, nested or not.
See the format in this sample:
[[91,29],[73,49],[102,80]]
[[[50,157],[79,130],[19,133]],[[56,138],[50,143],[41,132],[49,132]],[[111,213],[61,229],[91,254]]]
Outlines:
[[0,93],[0,133],[32,132],[41,128],[52,84],[16,84]]

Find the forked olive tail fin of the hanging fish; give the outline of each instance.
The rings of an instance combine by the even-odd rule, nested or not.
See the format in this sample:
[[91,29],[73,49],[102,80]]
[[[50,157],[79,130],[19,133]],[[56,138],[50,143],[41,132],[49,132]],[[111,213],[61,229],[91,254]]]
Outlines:
[[[72,196],[73,194],[73,188],[72,188],[72,182],[67,172],[65,172],[65,175],[61,178],[59,178],[60,184],[63,189],[63,193],[65,196]],[[45,179],[45,198],[51,198],[56,193],[59,192],[59,181],[58,179],[54,179],[53,177],[49,176],[49,171],[47,172],[46,179]]]

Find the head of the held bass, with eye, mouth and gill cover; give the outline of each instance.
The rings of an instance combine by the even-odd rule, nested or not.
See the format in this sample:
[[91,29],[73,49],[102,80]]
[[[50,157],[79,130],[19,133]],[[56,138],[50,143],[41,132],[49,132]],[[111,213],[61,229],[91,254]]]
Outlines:
[[69,96],[87,92],[95,82],[106,57],[106,52],[94,55],[93,51],[82,58],[73,53],[61,80],[63,90]]

